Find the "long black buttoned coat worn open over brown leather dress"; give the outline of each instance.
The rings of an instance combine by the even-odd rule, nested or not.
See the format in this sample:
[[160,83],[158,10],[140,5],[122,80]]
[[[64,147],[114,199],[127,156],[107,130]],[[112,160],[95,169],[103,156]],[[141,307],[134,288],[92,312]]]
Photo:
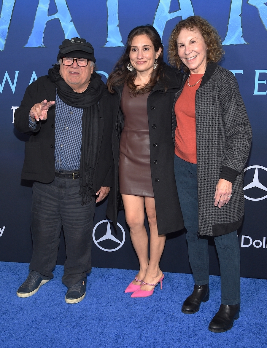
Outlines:
[[[165,67],[165,84],[157,83],[147,100],[148,125],[150,136],[150,167],[155,197],[158,234],[181,230],[182,212],[174,177],[174,144],[172,140],[172,108],[175,93],[182,83],[182,74],[170,66]],[[120,100],[123,86],[115,88],[111,109],[113,110],[114,129],[112,151],[115,157],[114,183],[112,186],[107,215],[115,222],[112,207],[117,204],[118,160],[119,160],[119,124],[121,119]],[[111,110],[110,109],[110,110]],[[116,119],[115,119],[116,117]],[[116,224],[116,222],[115,222]]]

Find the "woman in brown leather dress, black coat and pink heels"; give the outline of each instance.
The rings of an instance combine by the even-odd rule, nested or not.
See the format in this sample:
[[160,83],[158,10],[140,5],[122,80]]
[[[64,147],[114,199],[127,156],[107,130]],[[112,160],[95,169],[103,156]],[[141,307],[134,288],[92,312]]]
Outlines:
[[[152,295],[164,274],[159,268],[166,233],[183,228],[175,186],[171,110],[181,74],[163,62],[163,45],[151,25],[134,28],[125,52],[108,79],[124,120],[119,145],[119,190],[126,222],[140,263],[125,292]],[[146,209],[150,229],[144,227]],[[178,209],[178,210],[175,210]],[[178,213],[177,213],[178,212]]]

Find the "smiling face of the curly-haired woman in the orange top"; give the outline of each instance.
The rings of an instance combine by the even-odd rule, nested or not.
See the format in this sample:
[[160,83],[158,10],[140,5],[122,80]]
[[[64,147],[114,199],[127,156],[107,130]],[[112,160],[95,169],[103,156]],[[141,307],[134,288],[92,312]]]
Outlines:
[[207,46],[198,29],[183,28],[177,38],[178,55],[191,74],[204,74],[207,66]]

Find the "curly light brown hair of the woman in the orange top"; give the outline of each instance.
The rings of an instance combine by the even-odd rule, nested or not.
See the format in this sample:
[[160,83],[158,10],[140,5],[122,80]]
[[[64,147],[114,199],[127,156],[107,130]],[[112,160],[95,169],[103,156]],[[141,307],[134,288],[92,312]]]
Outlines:
[[222,49],[221,38],[218,31],[206,19],[200,16],[190,16],[176,24],[173,29],[168,46],[168,61],[171,65],[184,72],[189,72],[186,65],[183,64],[178,56],[177,38],[182,29],[199,30],[207,46],[207,62],[217,63],[221,60],[224,51]]

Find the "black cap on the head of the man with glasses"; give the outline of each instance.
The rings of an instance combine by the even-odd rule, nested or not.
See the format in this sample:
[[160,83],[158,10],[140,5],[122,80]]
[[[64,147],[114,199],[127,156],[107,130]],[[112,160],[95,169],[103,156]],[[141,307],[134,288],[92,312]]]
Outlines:
[[[60,50],[57,55],[57,60],[66,56],[70,57],[71,56],[70,53],[73,53],[72,58],[87,58],[95,62],[94,48],[89,42],[86,42],[85,39],[80,39],[80,38],[72,38],[70,40],[65,39],[62,42],[62,45],[58,46],[58,48]],[[79,57],[76,57],[78,52],[79,52]]]

